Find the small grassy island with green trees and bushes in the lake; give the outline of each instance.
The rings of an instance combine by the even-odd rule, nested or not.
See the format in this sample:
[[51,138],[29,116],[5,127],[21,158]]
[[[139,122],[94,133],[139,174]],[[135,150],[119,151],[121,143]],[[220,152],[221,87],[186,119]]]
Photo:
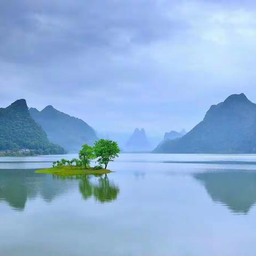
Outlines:
[[[107,169],[108,163],[114,161],[119,153],[120,149],[117,142],[100,139],[94,142],[94,147],[87,144],[83,145],[79,151],[79,158],[73,158],[71,160],[62,158],[61,161],[53,162],[51,168],[37,170],[36,173],[53,174],[62,177],[81,174],[107,174],[111,172]],[[97,158],[96,162],[99,164],[91,167],[90,163],[95,158]]]

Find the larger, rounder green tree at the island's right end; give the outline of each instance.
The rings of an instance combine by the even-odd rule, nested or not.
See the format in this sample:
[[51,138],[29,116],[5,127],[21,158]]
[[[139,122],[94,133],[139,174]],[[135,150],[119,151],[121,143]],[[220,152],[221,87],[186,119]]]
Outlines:
[[107,169],[108,163],[118,157],[120,149],[117,142],[100,139],[94,142],[94,153],[95,156],[98,157],[98,162],[104,164],[105,169]]

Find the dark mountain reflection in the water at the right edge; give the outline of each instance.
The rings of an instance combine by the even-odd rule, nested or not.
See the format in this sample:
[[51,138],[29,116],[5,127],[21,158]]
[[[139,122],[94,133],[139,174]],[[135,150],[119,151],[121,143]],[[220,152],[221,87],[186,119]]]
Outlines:
[[194,174],[214,202],[222,203],[233,213],[247,214],[256,203],[256,173],[249,171]]

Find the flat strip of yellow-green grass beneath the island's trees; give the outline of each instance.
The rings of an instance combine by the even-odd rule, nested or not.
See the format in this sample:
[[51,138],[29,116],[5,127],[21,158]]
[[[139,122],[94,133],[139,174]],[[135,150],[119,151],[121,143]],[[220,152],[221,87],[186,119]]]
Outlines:
[[93,169],[92,167],[88,167],[84,169],[83,167],[76,166],[56,166],[54,168],[40,169],[35,171],[36,173],[47,173],[58,176],[71,176],[71,175],[95,175],[95,174],[107,174],[110,173],[110,170],[107,169]]

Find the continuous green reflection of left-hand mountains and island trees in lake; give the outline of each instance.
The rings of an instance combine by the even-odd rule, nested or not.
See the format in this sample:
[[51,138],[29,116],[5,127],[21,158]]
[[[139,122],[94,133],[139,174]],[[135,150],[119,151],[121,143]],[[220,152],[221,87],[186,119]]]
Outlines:
[[12,209],[22,211],[28,199],[40,196],[45,202],[52,202],[54,198],[77,189],[84,199],[94,197],[96,201],[104,203],[117,198],[119,188],[108,177],[97,177],[92,182],[90,177],[81,175],[73,178],[57,178],[49,174],[38,174],[35,170],[0,170],[0,202],[7,202]]

